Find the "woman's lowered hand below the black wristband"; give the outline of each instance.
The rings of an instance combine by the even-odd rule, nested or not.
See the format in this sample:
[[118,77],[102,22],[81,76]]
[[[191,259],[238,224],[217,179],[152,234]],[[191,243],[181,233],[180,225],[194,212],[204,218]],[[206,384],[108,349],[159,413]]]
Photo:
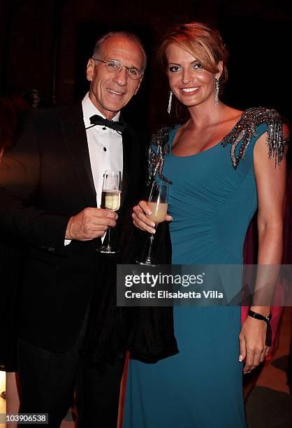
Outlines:
[[270,347],[265,345],[267,324],[265,321],[247,317],[240,331],[240,357],[245,359],[243,373],[254,370],[258,364],[265,360]]

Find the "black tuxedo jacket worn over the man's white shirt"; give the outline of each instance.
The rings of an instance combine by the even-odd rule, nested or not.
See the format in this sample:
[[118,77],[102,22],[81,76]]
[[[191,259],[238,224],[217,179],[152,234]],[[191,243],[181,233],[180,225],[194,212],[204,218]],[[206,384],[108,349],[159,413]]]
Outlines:
[[64,245],[69,218],[96,207],[80,103],[29,113],[1,162],[0,233],[22,250],[17,266],[20,336],[42,348],[68,349],[78,336],[93,290],[106,286],[105,266],[115,270],[115,263],[132,261],[136,232],[131,209],[143,193],[145,144],[143,135],[130,127],[122,138],[122,206],[112,234],[124,249],[119,259],[96,252],[100,238]]

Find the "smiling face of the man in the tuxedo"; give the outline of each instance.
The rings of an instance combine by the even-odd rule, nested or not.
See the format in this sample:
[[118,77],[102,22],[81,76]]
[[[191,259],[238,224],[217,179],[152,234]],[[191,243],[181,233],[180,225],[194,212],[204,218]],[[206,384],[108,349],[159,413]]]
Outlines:
[[[142,71],[143,52],[140,46],[129,38],[112,36],[103,43],[98,59],[115,59],[121,64]],[[126,68],[111,73],[103,62],[89,59],[87,80],[91,82],[89,98],[98,110],[108,119],[112,119],[121,108],[129,103],[140,87],[141,78],[133,80],[126,74]]]

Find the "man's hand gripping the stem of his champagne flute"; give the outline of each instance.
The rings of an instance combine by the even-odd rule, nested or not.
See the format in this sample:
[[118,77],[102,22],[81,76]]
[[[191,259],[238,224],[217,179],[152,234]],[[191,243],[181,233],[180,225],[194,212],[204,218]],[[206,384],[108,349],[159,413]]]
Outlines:
[[90,241],[103,236],[108,227],[115,227],[117,214],[101,208],[85,208],[70,217],[66,229],[66,239]]

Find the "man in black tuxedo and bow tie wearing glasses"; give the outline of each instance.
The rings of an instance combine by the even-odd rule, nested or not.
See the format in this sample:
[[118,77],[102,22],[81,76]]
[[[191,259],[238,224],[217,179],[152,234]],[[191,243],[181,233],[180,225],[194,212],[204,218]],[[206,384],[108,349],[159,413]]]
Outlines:
[[[100,336],[118,331],[107,325],[112,316],[105,304],[115,288],[108,278],[117,261],[131,262],[125,234],[133,246],[131,207],[140,197],[145,159],[141,135],[122,122],[120,110],[137,93],[145,66],[135,35],[105,34],[87,64],[90,89],[82,103],[27,115],[1,163],[0,232],[17,240],[23,254],[20,412],[48,413],[50,427],[61,424],[75,389],[80,427],[117,425],[124,355],[100,371],[89,364],[87,370],[80,348],[93,294],[103,301]],[[122,171],[118,213],[100,208],[105,170]],[[108,227],[123,247],[119,259],[96,252]]]

